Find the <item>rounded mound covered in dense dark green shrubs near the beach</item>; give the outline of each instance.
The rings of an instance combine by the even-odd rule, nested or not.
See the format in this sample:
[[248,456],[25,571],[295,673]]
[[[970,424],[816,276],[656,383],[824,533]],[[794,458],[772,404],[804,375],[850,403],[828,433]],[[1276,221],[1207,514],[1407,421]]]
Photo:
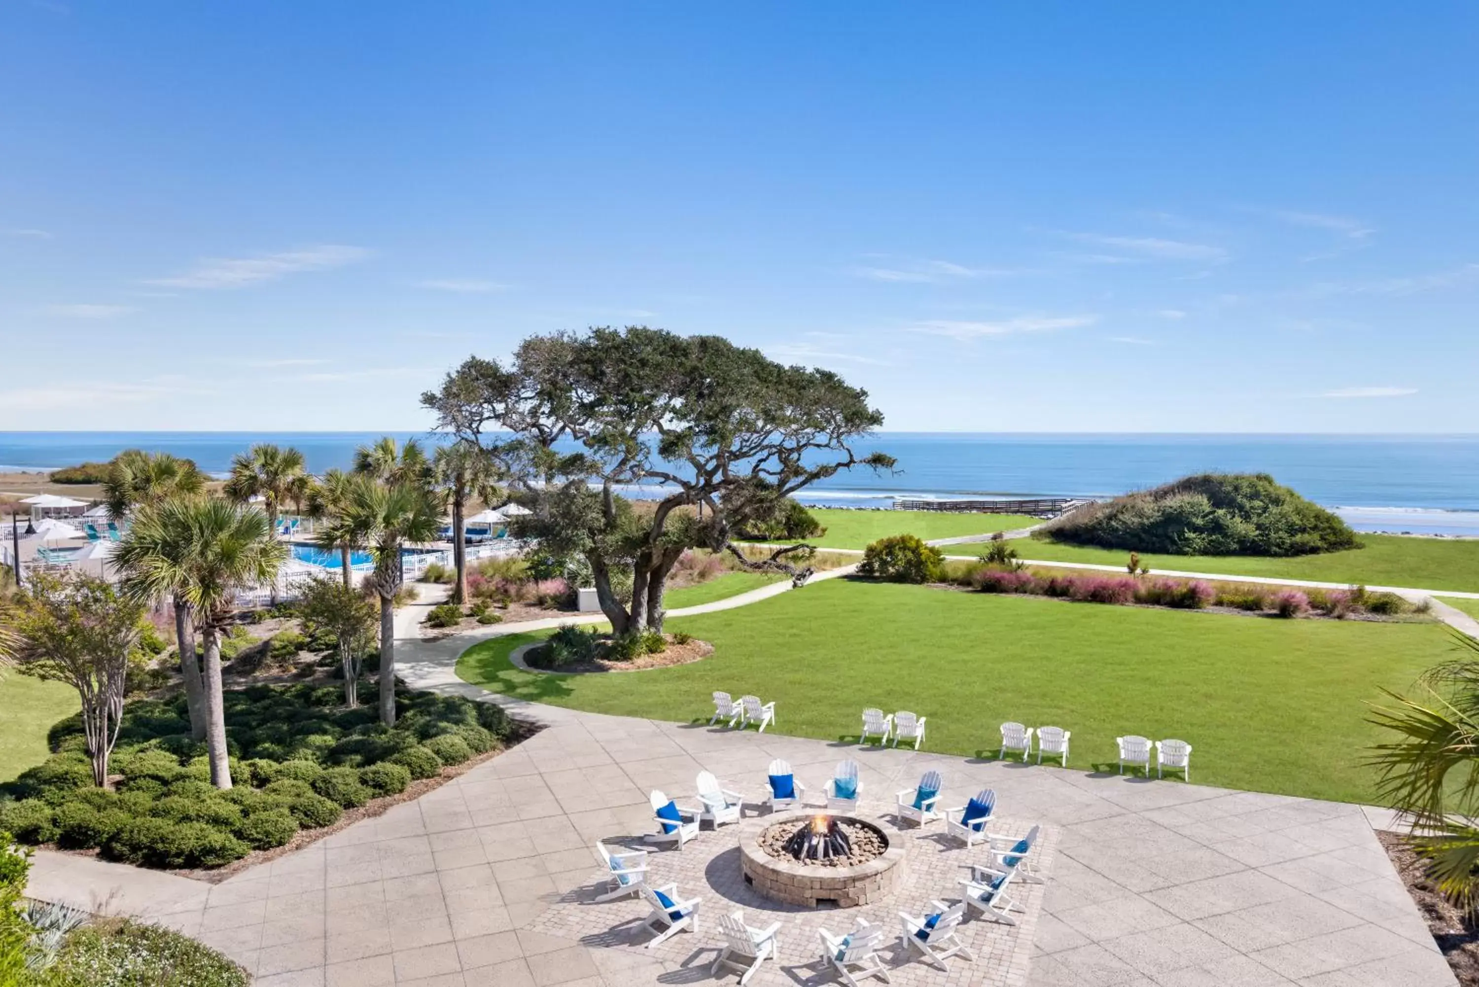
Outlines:
[[1315,555],[1361,548],[1344,521],[1268,474],[1202,474],[1092,505],[1044,537],[1165,555]]

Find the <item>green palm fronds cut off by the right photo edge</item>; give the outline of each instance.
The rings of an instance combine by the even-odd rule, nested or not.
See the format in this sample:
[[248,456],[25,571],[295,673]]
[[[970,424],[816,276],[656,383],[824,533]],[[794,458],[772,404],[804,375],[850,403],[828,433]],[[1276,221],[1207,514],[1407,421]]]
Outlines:
[[1371,762],[1381,804],[1404,814],[1438,886],[1479,914],[1479,641],[1454,639],[1466,654],[1429,669],[1420,698],[1389,691],[1396,706],[1373,710],[1396,737]]

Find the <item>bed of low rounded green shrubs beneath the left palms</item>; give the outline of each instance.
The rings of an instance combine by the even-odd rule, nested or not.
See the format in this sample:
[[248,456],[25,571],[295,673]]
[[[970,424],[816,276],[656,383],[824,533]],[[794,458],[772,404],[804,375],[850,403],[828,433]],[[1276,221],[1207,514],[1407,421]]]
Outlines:
[[219,867],[299,829],[331,826],[346,808],[436,777],[512,732],[498,706],[461,697],[402,691],[393,728],[342,700],[340,688],[309,684],[228,691],[235,787],[226,792],[210,784],[183,697],[124,707],[111,761],[123,775],[117,790],[92,786],[81,724],[70,718],[49,734],[50,759],[0,786],[0,830],[148,867]]

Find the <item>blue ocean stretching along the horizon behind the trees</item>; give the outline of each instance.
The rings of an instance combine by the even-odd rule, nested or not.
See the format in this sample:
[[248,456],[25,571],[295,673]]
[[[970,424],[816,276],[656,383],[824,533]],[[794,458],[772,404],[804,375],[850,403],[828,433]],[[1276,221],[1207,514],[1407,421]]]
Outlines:
[[[348,468],[383,432],[0,432],[0,471],[106,460],[124,448],[186,456],[211,474],[253,442],[296,445],[308,468]],[[396,439],[420,437],[392,432]],[[810,488],[824,506],[895,497],[1112,497],[1194,472],[1266,472],[1364,531],[1479,536],[1479,435],[1108,435],[880,432],[862,444],[898,471]],[[3,487],[3,481],[0,481]]]

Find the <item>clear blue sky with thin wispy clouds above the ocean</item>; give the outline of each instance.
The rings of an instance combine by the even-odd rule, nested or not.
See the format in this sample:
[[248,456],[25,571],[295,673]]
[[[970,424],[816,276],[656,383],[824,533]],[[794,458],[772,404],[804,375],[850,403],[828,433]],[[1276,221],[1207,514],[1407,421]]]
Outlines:
[[0,429],[643,323],[890,429],[1479,431],[1479,9],[0,7]]

